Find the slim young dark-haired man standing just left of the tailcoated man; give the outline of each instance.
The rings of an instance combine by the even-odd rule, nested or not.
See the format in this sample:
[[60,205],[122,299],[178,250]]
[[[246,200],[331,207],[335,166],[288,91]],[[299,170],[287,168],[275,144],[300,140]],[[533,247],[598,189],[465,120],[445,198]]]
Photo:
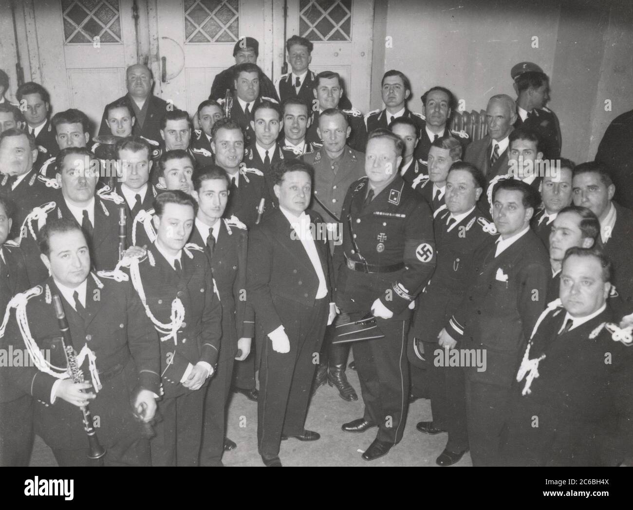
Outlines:
[[198,210],[189,240],[205,247],[222,305],[222,348],[205,397],[200,464],[222,466],[222,451],[237,447],[225,435],[233,366],[249,354],[254,356],[254,313],[246,301],[248,231],[236,216],[222,219],[229,200],[229,178],[219,166],[207,167],[198,175],[194,198]]

